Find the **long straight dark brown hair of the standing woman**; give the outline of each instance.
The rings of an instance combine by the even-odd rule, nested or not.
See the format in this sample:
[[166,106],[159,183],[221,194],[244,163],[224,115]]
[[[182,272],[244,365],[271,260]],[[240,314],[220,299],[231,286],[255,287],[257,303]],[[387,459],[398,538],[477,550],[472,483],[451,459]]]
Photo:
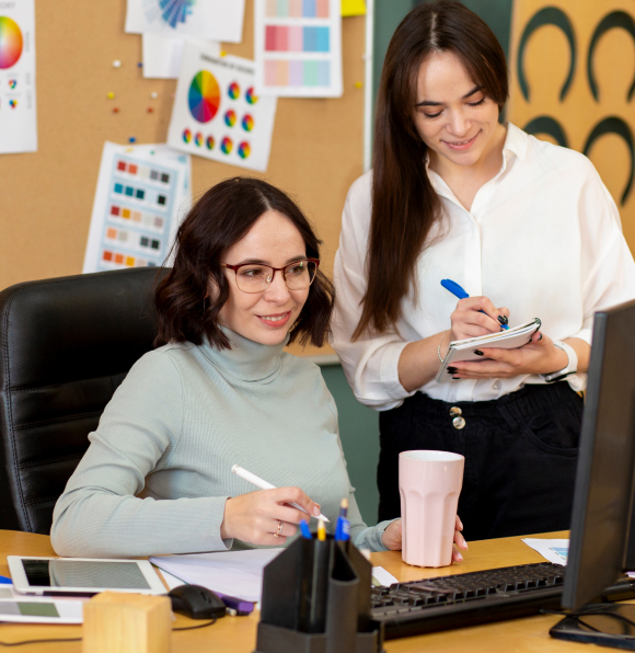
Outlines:
[[460,2],[413,9],[394,33],[383,64],[374,121],[368,287],[353,339],[385,333],[402,300],[417,297],[415,266],[442,204],[426,171],[427,146],[413,121],[417,76],[432,53],[453,53],[483,93],[503,108],[508,95],[505,53],[492,30]]

